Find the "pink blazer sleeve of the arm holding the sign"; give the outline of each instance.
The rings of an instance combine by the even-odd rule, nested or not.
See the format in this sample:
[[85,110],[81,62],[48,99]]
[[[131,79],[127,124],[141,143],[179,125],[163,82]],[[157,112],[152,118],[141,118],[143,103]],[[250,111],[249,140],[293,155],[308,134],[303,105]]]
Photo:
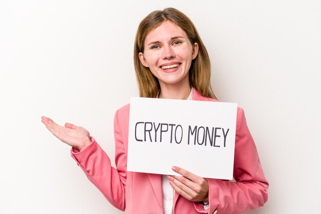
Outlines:
[[[254,140],[250,134],[244,111],[237,110],[233,177],[228,180],[207,179],[209,209],[195,204],[199,212],[239,213],[263,206],[268,200],[265,179]],[[216,213],[216,212],[215,212]]]

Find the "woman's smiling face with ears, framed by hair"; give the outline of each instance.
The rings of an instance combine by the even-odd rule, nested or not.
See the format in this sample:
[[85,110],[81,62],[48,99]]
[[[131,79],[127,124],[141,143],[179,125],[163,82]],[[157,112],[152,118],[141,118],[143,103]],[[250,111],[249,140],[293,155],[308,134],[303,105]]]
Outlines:
[[198,44],[191,44],[186,32],[169,20],[150,31],[139,60],[158,79],[160,88],[189,87],[189,69],[198,53]]

